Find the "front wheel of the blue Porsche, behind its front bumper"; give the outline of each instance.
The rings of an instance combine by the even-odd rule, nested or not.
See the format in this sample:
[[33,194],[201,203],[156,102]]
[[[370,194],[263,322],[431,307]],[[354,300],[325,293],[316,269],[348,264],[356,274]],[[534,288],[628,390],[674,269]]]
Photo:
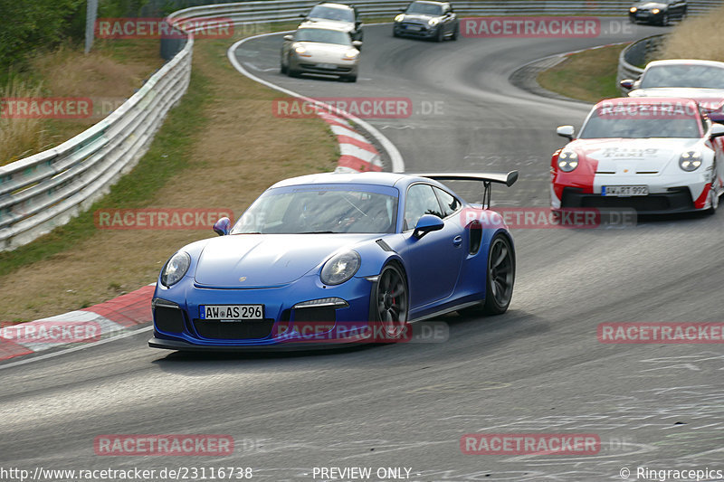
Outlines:
[[370,320],[384,326],[388,336],[400,336],[407,327],[409,307],[405,275],[395,263],[386,264],[372,289]]

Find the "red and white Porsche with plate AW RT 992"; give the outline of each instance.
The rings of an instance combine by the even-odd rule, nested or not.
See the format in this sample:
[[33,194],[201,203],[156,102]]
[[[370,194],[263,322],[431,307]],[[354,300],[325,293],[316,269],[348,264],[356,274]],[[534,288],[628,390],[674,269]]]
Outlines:
[[691,99],[598,102],[551,158],[551,207],[713,213],[724,192],[724,126]]

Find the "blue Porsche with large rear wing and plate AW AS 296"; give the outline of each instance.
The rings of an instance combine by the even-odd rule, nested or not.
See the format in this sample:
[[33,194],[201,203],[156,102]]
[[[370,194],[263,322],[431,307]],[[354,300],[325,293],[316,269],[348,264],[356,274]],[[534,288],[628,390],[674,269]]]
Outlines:
[[[377,323],[395,336],[452,311],[501,314],[515,250],[488,206],[491,183],[517,178],[327,173],[274,184],[233,228],[222,218],[214,224],[220,237],[170,257],[152,300],[149,345],[309,346],[306,323]],[[479,182],[487,202],[465,203],[435,179]]]

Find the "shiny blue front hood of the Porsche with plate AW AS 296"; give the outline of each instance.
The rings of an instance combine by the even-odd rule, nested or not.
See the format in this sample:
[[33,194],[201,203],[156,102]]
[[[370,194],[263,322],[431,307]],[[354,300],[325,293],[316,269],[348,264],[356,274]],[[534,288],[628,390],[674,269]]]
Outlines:
[[375,234],[233,234],[209,240],[195,282],[209,288],[281,286]]

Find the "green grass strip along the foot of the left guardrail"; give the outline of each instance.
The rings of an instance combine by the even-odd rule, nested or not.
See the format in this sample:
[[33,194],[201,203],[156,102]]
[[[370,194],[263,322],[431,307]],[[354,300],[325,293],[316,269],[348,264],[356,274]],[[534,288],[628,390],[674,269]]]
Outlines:
[[[16,250],[0,253],[0,276],[4,276],[29,263],[45,260],[53,254],[67,250],[98,232],[93,213],[98,209],[112,209],[119,205],[128,208],[148,203],[167,178],[183,169],[190,159],[195,143],[195,132],[205,127],[204,105],[212,98],[206,88],[204,74],[191,71],[191,84],[181,102],[171,109],[154,137],[151,146],[138,165],[110,188],[110,193],[94,203],[71,222]],[[194,119],[189,122],[189,119]]]

